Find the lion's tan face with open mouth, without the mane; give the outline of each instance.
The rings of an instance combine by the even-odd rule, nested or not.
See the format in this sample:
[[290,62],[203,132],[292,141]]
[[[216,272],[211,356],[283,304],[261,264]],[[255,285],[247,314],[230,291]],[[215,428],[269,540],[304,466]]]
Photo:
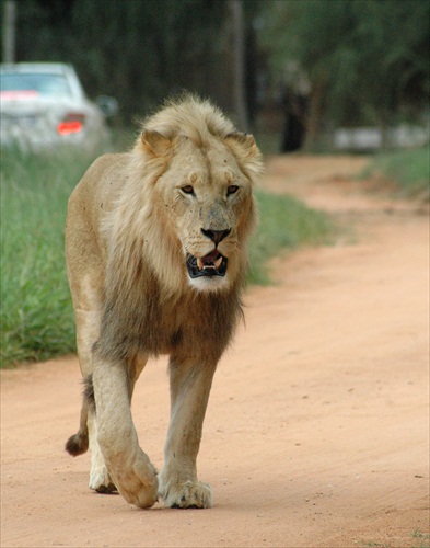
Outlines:
[[231,286],[246,265],[255,206],[251,181],[229,146],[212,138],[201,149],[181,139],[154,191],[177,237],[188,284],[198,290]]

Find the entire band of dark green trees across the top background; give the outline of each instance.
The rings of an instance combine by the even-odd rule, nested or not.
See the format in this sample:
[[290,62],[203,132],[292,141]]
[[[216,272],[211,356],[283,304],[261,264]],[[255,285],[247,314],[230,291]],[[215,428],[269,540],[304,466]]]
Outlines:
[[[73,64],[90,96],[114,95],[117,121],[127,124],[182,89],[237,113],[236,1],[246,46],[242,103],[254,123],[279,96],[269,93],[279,76],[287,87],[310,84],[307,111],[294,106],[309,146],[324,125],[384,129],[426,111],[430,3],[423,0],[21,0],[16,60]],[[288,76],[291,61],[297,72]]]

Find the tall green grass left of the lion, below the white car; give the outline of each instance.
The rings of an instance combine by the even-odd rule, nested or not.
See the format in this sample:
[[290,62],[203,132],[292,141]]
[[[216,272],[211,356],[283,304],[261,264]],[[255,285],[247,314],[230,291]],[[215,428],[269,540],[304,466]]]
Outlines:
[[74,349],[63,258],[67,199],[90,159],[1,155],[1,364]]

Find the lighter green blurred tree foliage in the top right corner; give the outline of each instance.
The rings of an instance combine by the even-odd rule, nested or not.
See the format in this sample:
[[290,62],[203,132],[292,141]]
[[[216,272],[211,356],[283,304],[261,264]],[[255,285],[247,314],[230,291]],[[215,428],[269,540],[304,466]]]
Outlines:
[[279,73],[300,64],[318,124],[385,127],[427,105],[429,23],[421,0],[283,0],[267,5],[264,42]]

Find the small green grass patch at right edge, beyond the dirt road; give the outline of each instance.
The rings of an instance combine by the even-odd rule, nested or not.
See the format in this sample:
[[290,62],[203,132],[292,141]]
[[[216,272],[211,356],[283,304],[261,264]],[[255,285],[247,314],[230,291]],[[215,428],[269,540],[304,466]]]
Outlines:
[[376,155],[361,173],[362,179],[393,182],[400,196],[430,199],[430,148],[415,148]]

